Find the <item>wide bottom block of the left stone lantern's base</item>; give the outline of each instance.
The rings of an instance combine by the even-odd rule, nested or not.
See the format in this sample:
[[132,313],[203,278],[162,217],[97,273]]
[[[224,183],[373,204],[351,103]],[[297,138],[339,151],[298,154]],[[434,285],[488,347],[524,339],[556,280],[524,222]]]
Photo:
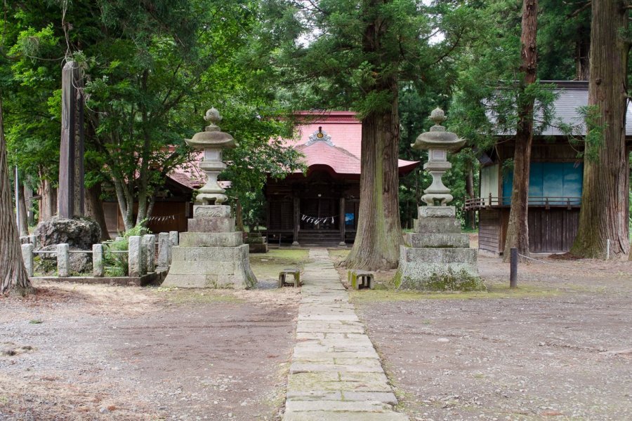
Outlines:
[[174,247],[162,286],[179,288],[251,288],[257,283],[248,260],[248,244],[237,247]]

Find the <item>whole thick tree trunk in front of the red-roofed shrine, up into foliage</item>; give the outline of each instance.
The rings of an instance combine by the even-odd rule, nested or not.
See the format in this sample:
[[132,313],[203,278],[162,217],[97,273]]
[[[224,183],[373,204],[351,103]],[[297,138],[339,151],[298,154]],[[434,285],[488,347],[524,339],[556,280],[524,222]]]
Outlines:
[[[399,208],[400,118],[397,114],[397,74],[385,66],[383,38],[389,29],[388,20],[374,13],[388,6],[388,0],[364,0],[364,36],[362,50],[371,56],[373,81],[367,91],[377,98],[388,98],[378,110],[368,112],[362,119],[360,209],[353,248],[345,265],[369,270],[393,269],[400,259],[402,225]],[[386,67],[386,68],[385,68]]]

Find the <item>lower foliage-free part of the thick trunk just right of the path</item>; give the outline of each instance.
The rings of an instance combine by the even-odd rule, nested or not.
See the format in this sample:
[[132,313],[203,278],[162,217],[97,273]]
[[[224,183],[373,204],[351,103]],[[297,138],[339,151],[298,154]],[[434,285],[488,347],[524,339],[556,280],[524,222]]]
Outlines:
[[350,268],[369,270],[397,267],[402,227],[397,197],[399,119],[397,90],[393,111],[369,114],[362,120],[360,211]]

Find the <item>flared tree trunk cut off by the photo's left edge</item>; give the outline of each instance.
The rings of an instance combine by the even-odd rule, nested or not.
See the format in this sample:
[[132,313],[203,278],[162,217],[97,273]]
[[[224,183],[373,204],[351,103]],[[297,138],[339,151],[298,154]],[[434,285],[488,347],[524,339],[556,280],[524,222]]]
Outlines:
[[33,288],[22,261],[18,225],[13,218],[11,181],[6,166],[3,126],[0,98],[0,294],[8,294],[9,290],[14,290],[20,295],[26,295],[31,293]]

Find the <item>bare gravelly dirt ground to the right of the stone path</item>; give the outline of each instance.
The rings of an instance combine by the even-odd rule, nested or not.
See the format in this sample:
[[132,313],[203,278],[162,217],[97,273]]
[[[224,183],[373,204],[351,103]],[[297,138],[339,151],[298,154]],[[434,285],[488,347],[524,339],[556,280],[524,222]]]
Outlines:
[[489,293],[353,299],[412,420],[632,420],[632,262],[479,257]]

